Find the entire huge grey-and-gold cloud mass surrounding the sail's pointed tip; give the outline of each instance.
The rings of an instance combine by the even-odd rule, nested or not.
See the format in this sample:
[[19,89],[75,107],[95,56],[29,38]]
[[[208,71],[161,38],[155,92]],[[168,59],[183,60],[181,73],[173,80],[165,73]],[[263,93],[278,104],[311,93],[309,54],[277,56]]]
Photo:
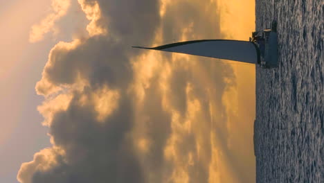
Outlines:
[[221,38],[217,2],[78,2],[89,37],[56,44],[36,85],[53,147],[19,182],[250,182],[228,147],[232,67],[130,48]]

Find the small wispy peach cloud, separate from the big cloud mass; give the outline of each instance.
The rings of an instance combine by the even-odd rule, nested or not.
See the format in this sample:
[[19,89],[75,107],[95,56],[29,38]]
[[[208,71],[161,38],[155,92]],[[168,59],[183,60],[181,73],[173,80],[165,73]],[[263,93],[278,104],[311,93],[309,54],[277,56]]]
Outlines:
[[52,31],[55,33],[55,22],[66,15],[70,7],[70,0],[52,0],[51,13],[49,13],[39,24],[33,25],[29,35],[30,42],[39,42],[44,35]]

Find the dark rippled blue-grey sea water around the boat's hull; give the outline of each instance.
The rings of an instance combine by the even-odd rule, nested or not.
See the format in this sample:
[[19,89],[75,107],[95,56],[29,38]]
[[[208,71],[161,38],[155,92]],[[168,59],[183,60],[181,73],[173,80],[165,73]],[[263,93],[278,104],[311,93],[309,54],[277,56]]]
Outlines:
[[323,0],[256,0],[256,29],[278,21],[279,67],[256,68],[257,182],[324,182]]

